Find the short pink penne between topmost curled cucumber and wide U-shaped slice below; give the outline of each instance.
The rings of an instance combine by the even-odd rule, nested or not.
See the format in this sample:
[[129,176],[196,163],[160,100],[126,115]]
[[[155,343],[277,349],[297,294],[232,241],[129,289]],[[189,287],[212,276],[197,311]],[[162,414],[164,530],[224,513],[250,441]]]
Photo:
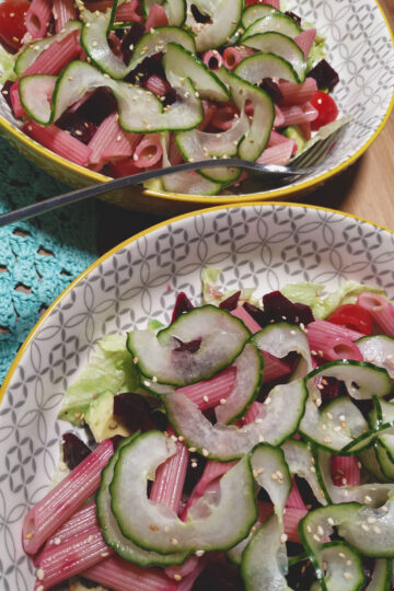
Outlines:
[[179,387],[178,391],[194,402],[200,410],[212,408],[227,398],[234,387],[235,368],[227,368],[210,380]]

